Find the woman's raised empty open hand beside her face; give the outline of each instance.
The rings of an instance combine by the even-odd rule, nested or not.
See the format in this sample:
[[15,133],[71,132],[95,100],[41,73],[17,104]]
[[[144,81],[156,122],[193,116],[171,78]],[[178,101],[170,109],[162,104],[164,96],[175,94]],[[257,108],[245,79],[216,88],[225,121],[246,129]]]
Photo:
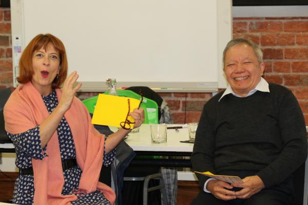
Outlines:
[[79,88],[81,87],[82,83],[79,82],[75,87],[74,84],[77,81],[79,75],[77,74],[76,71],[72,72],[64,81],[63,84],[63,92],[62,92],[62,97],[59,103],[59,107],[63,109],[63,111],[67,111],[73,101],[73,98],[75,96],[75,93]]

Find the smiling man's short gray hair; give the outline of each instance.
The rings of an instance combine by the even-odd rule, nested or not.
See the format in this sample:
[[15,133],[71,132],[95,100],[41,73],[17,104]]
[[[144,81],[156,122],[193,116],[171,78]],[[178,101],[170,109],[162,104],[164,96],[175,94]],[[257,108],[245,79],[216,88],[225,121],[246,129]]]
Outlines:
[[263,53],[262,53],[259,45],[257,45],[256,43],[254,43],[253,41],[251,41],[249,39],[235,38],[235,39],[232,39],[228,42],[228,44],[226,45],[226,47],[223,51],[223,56],[222,56],[223,67],[225,66],[224,61],[225,61],[226,52],[229,50],[229,48],[231,48],[231,47],[233,47],[234,45],[237,45],[237,44],[246,44],[249,47],[251,47],[254,50],[254,52],[255,52],[255,54],[258,58],[258,62],[259,63],[263,62]]

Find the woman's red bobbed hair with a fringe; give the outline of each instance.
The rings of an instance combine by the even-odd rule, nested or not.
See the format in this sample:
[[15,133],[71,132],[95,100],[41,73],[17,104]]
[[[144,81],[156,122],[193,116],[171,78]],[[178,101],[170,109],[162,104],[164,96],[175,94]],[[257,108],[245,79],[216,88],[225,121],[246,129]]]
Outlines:
[[67,76],[67,57],[63,42],[51,34],[38,34],[35,36],[25,48],[19,62],[20,76],[17,77],[18,83],[25,84],[32,80],[33,65],[32,57],[35,51],[40,49],[46,50],[49,45],[59,52],[60,56],[60,71],[52,82],[52,88],[59,88]]

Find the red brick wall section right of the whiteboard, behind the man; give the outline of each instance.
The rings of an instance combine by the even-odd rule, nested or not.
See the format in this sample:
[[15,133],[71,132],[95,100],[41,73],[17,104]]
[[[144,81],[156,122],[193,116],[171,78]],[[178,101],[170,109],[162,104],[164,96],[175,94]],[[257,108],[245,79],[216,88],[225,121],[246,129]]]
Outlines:
[[308,124],[308,17],[235,18],[233,37],[261,46],[264,78],[292,90]]

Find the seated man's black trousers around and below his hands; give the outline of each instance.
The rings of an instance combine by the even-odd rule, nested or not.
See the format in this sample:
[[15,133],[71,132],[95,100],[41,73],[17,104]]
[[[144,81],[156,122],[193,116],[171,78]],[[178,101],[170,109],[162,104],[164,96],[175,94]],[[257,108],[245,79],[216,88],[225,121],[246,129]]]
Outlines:
[[[244,178],[245,176],[253,176],[256,172],[252,171],[228,171],[220,173],[223,175],[234,175]],[[235,188],[235,191],[240,190]],[[280,185],[262,189],[260,192],[252,195],[247,199],[233,199],[224,201],[216,198],[211,193],[201,191],[198,196],[192,200],[190,205],[292,205],[294,195],[294,187],[291,177],[285,179]]]

